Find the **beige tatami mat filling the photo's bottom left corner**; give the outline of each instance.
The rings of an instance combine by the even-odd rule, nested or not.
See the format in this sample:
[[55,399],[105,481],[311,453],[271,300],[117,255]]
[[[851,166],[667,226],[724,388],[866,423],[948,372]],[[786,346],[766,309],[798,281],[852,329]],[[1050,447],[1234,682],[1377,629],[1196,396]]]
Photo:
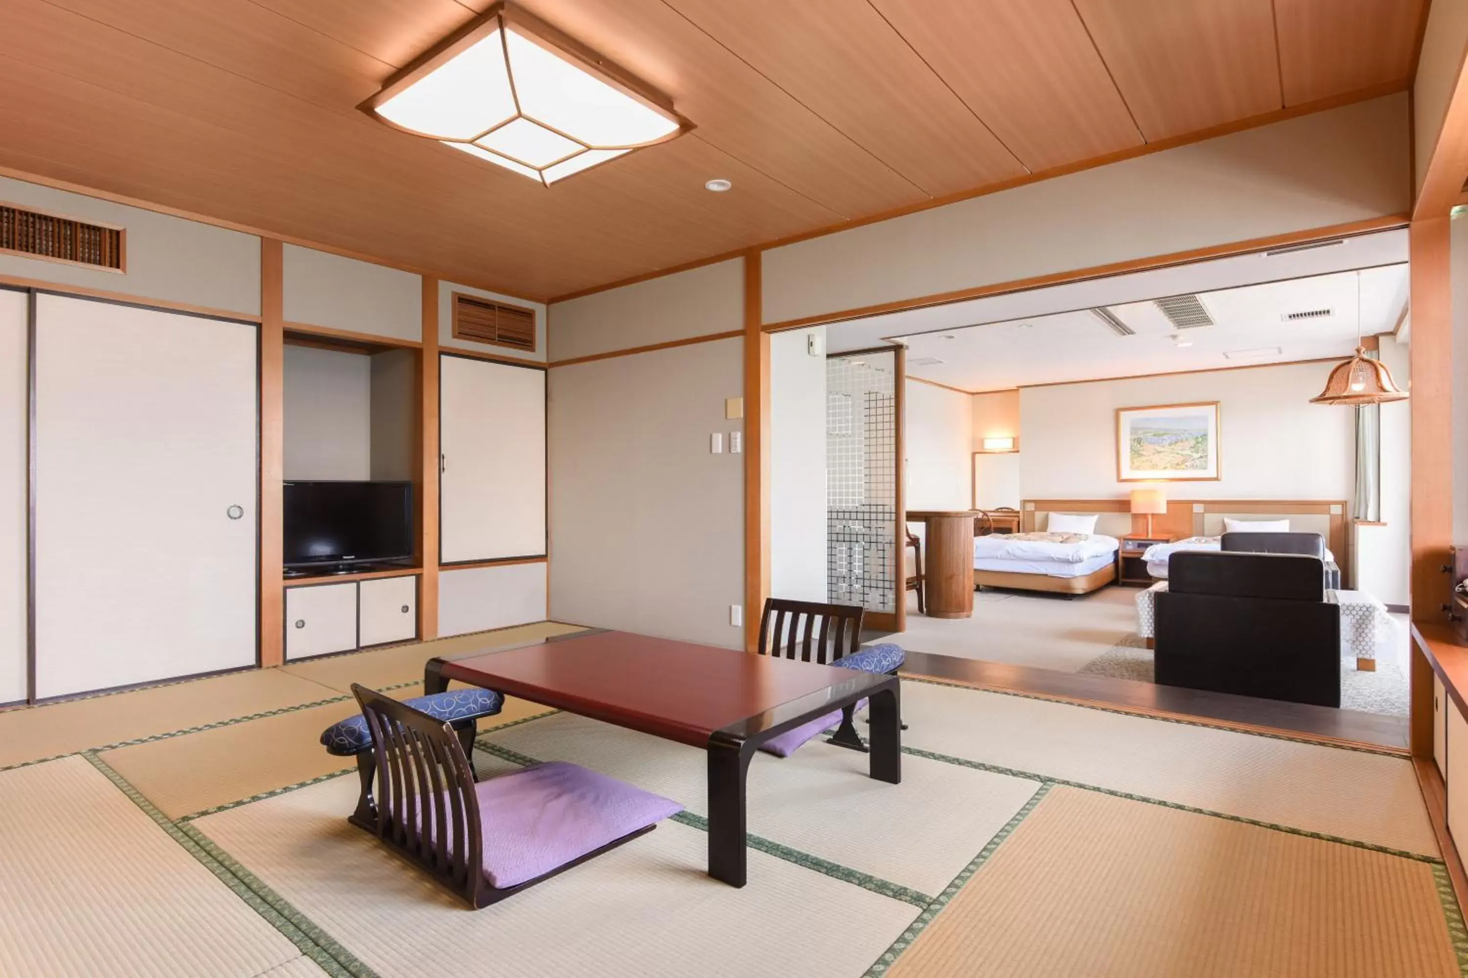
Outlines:
[[301,956],[85,758],[0,773],[0,974],[247,978]]

